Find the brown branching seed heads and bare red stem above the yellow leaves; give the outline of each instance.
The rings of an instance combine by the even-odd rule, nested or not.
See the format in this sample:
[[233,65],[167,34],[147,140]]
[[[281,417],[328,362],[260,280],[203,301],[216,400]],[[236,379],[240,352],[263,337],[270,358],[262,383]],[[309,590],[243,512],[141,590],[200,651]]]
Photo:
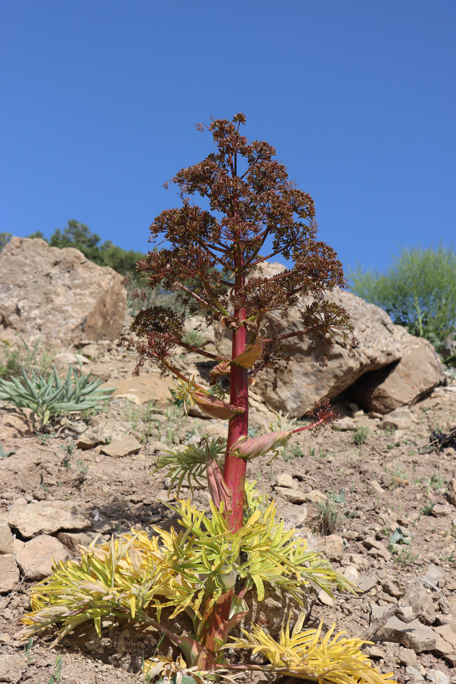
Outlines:
[[[162,211],[150,226],[151,240],[169,247],[149,252],[138,263],[146,285],[175,291],[185,313],[153,306],[140,311],[131,325],[139,339],[136,373],[145,360],[156,363],[186,384],[188,397],[200,408],[205,410],[206,403],[210,415],[229,417],[223,477],[231,492],[233,529],[242,525],[245,464],[250,458],[245,440],[249,383],[266,373],[277,386],[277,376],[290,360],[283,340],[290,337],[321,337],[327,349],[336,336],[351,339],[350,355],[357,344],[344,308],[325,300],[326,291],[346,282],[337,254],[316,239],[314,201],[289,181],[273,146],[259,140],[249,143],[240,134],[244,123],[244,114],[236,114],[231,122],[201,124],[201,130],[211,131],[216,152],[175,175],[172,182],[181,191],[183,206]],[[190,201],[198,195],[210,211]],[[272,244],[269,254],[264,254],[266,241]],[[262,263],[277,254],[292,261],[292,267],[267,277]],[[301,307],[302,329],[286,332],[291,306]],[[231,358],[184,343],[186,315],[197,319],[196,326],[230,330]],[[220,376],[229,378],[229,402],[218,399],[214,406],[207,390],[173,367],[171,356],[179,346],[214,359],[212,383]],[[326,356],[320,365],[327,365]],[[333,412],[323,410],[316,425],[333,419]],[[252,444],[252,449],[264,453],[264,447]]]

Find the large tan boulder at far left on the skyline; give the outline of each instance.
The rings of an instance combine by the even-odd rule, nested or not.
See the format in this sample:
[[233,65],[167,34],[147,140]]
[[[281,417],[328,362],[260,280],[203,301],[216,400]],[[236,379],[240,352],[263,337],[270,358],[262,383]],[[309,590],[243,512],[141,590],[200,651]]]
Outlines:
[[127,308],[120,281],[72,247],[12,237],[0,254],[0,337],[16,332],[52,345],[116,339]]

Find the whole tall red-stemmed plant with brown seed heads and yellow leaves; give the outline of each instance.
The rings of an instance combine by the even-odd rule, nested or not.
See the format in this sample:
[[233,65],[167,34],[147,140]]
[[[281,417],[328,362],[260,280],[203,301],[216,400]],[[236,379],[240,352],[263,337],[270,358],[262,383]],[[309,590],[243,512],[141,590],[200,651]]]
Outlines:
[[[322,635],[321,625],[303,631],[304,615],[292,629],[290,621],[284,624],[277,641],[259,626],[227,641],[249,611],[249,592],[262,601],[265,585],[287,592],[301,605],[310,581],[329,594],[353,590],[294,530],[283,529],[274,503],[245,477],[248,460],[274,457],[294,434],[317,431],[336,418],[326,401],[315,407],[305,427],[296,428],[279,412],[263,434],[249,436],[249,386],[261,375],[277,385],[290,361],[284,340],[305,334],[311,346],[320,337],[331,349],[340,336],[350,341],[350,356],[357,341],[346,311],[325,300],[325,292],[344,287],[345,281],[335,252],[316,239],[312,198],[288,180],[270,144],[249,143],[241,135],[244,123],[244,114],[236,114],[231,122],[201,124],[212,133],[216,151],[176,174],[173,183],[182,205],[155,218],[155,249],[138,262],[144,287],[175,291],[183,313],[152,306],[140,311],[130,328],[138,351],[134,374],[149,362],[172,373],[186,408],[197,405],[228,421],[227,439],[203,439],[158,459],[157,468],[176,486],[177,503],[170,508],[179,516],[181,531],[157,527],[151,539],[132,531],[83,549],[80,564],[60,563],[34,588],[34,610],[23,618],[22,634],[60,624],[59,639],[94,620],[101,635],[105,616],[127,616],[162,630],[181,649],[185,662],[155,658],[161,681],[229,679],[238,670],[263,669],[338,684],[381,683],[385,675],[370,667],[360,651],[362,642],[333,635],[333,630]],[[209,208],[197,206],[191,199],[195,195]],[[266,245],[272,245],[269,254]],[[262,263],[279,254],[291,267],[266,276]],[[146,299],[144,290],[136,295]],[[302,326],[286,332],[292,306],[299,307]],[[199,328],[228,331],[231,354],[212,354],[184,341],[188,317]],[[121,343],[133,345],[133,334]],[[173,365],[178,347],[213,361],[210,386],[197,384]],[[327,365],[326,356],[320,365]],[[179,499],[184,480],[190,490],[192,482],[207,483],[210,512]],[[160,622],[164,608],[172,609],[168,624]],[[192,629],[177,634],[169,621],[182,612]],[[226,646],[251,648],[269,665],[227,663]]]

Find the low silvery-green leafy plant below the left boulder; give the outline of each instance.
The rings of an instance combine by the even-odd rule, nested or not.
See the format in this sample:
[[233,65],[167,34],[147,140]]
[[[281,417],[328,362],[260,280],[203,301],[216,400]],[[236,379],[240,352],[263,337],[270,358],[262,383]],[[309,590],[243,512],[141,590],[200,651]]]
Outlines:
[[47,376],[32,373],[31,378],[27,378],[22,369],[21,378],[0,378],[0,399],[18,408],[33,410],[40,418],[42,429],[52,416],[96,408],[100,402],[109,399],[115,388],[101,388],[102,382],[91,380],[90,373],[88,376],[84,373],[78,375],[73,366],[68,368],[64,381],[58,376],[55,366]]

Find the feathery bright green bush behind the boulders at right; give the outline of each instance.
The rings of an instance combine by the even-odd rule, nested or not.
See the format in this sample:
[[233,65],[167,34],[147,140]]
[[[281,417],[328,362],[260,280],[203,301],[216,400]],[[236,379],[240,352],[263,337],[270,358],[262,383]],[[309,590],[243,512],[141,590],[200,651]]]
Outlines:
[[437,349],[456,330],[456,252],[403,248],[384,273],[358,267],[349,274],[351,290],[385,309],[395,324]]

